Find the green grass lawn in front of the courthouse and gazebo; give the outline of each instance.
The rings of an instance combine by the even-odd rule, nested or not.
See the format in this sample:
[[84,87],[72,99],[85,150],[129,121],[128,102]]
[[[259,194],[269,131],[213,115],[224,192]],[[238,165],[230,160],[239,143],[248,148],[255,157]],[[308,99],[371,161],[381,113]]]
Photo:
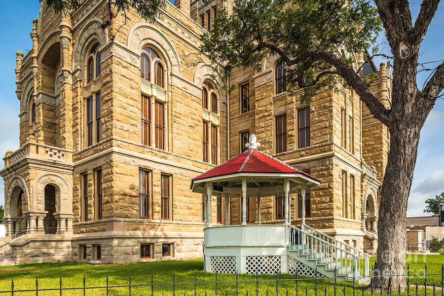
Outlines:
[[[416,262],[411,262],[415,261]],[[423,262],[425,260],[425,262]],[[427,263],[428,273],[441,273],[441,264],[444,262],[444,256],[429,255],[423,259],[422,256],[414,258],[407,257],[410,263],[410,271],[414,276],[411,277],[410,283],[423,284],[422,277],[415,276],[416,273],[422,275],[424,273],[424,264]],[[374,264],[374,258],[370,259],[370,266]],[[36,277],[38,279],[38,289],[59,288],[60,277],[62,277],[62,287],[82,287],[83,276],[85,276],[85,286],[106,286],[106,277],[109,275],[109,285],[128,285],[129,274],[131,274],[131,284],[141,285],[149,284],[151,282],[151,273],[154,275],[154,284],[172,283],[173,272],[175,273],[176,283],[193,283],[194,273],[196,272],[197,282],[214,282],[215,275],[212,273],[202,272],[203,260],[175,260],[175,261],[154,261],[154,262],[138,262],[118,265],[90,265],[78,263],[39,263],[39,264],[25,264],[17,266],[3,266],[0,267],[0,291],[11,290],[11,279],[14,279],[14,290],[35,289]],[[279,275],[282,279],[294,279],[294,275],[282,274]],[[428,276],[428,283],[441,285],[441,276]],[[261,275],[259,279],[270,280],[268,282],[259,282],[259,295],[276,295],[276,279],[275,276]],[[219,274],[218,281],[235,281],[235,275]],[[256,295],[256,276],[239,275],[239,281],[252,281],[239,283],[239,296],[245,296],[246,293],[250,296]],[[308,295],[315,295],[315,281],[313,279],[304,279],[298,281],[298,295],[305,295],[305,289],[308,289]],[[352,283],[338,282],[337,295],[343,296],[343,287],[346,287],[345,295],[353,295]],[[318,295],[324,296],[324,289],[327,288],[327,295],[333,295],[333,280],[318,280]],[[197,295],[215,296],[216,285],[200,284],[197,285]],[[296,281],[283,281],[279,283],[279,296],[286,296],[287,289],[289,295],[296,295]],[[396,290],[394,288],[394,290]],[[219,283],[218,295],[226,294],[236,296],[235,283]],[[421,291],[421,289],[420,289]],[[423,291],[423,289],[422,289]],[[105,295],[105,289],[86,290],[87,296]],[[173,287],[171,285],[159,285],[154,287],[155,296],[172,296]],[[194,296],[194,285],[176,285],[176,296]],[[62,295],[78,295],[83,294],[82,290],[65,290]],[[128,288],[111,288],[110,295],[128,295]],[[150,295],[150,287],[132,287],[131,295]],[[2,294],[1,295],[11,295]],[[36,292],[17,292],[17,296],[34,296]],[[58,296],[60,291],[39,292],[38,295]],[[362,295],[361,286],[357,285],[356,296]],[[366,292],[365,295],[370,295]]]

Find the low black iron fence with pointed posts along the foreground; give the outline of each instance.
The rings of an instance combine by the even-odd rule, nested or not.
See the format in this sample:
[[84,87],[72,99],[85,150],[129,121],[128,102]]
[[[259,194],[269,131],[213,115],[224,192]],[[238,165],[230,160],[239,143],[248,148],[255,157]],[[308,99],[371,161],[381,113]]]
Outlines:
[[[80,287],[65,287],[62,277],[60,277],[58,287],[53,288],[39,288],[41,282],[36,278],[35,287],[32,289],[17,287],[14,280],[11,279],[10,290],[0,291],[0,296],[444,296],[444,264],[442,264],[441,273],[427,273],[427,265],[423,270],[424,272],[421,274],[411,274],[410,268],[407,267],[407,274],[391,274],[389,272],[385,275],[378,275],[378,272],[372,268],[371,275],[367,278],[356,276],[353,272],[350,282],[339,281],[336,270],[332,278],[304,277],[298,275],[296,271],[294,275],[276,273],[274,278],[270,278],[273,277],[272,275],[242,275],[244,278],[250,277],[250,279],[239,279],[240,275],[236,273],[232,275],[232,281],[218,280],[218,274],[214,274],[214,281],[199,282],[196,272],[194,272],[193,282],[177,282],[176,275],[173,273],[170,283],[156,283],[155,277],[151,273],[148,283],[134,283],[129,275],[127,285],[112,285],[107,275],[106,285],[94,286],[88,286],[87,278],[83,276],[83,283]],[[292,277],[289,278],[289,276]],[[385,277],[388,280],[386,289],[376,287],[374,283],[377,282],[378,277]],[[393,284],[394,279],[399,277],[405,279],[405,288],[402,288],[401,284]],[[430,277],[433,277],[435,281],[428,281]],[[437,283],[437,278],[441,278],[441,282]],[[366,279],[368,279],[367,282],[358,284],[361,280]],[[412,283],[412,279],[414,279],[414,283]],[[419,280],[421,283],[418,283]],[[1,282],[2,280],[0,280]]]

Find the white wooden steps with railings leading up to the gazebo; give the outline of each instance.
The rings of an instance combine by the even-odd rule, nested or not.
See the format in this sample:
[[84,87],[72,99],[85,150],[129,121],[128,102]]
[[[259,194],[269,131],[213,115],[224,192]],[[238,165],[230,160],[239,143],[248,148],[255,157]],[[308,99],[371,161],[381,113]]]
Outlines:
[[[287,254],[300,262],[300,266],[308,267],[299,267],[301,275],[336,277],[339,281],[348,282],[354,279],[357,283],[370,281],[370,255],[307,225],[301,228],[291,226]],[[364,261],[364,274],[361,261]]]

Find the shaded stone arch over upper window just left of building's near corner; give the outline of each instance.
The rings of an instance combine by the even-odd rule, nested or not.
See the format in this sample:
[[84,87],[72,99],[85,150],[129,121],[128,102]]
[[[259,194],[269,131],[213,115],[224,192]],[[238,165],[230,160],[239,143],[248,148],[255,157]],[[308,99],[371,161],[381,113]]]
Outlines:
[[108,30],[102,29],[102,24],[102,19],[95,17],[85,24],[80,30],[80,34],[77,37],[75,46],[73,48],[73,78],[83,79],[86,81],[86,62],[89,55],[88,50],[91,49],[95,42],[99,42],[101,46],[108,43]]

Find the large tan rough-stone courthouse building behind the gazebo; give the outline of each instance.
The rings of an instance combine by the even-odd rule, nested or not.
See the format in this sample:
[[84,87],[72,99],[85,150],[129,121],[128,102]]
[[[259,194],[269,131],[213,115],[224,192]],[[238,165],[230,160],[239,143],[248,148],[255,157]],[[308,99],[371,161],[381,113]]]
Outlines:
[[[191,179],[244,151],[253,133],[261,151],[322,181],[306,195],[308,225],[374,252],[389,135],[356,93],[339,85],[301,106],[270,56],[260,72],[234,70],[227,94],[190,54],[229,0],[166,1],[153,24],[130,11],[109,26],[107,4],[66,15],[43,1],[32,50],[17,52],[20,148],[0,171],[16,263],[202,258],[206,203]],[[356,57],[358,69],[364,51]],[[390,65],[361,71],[390,105]],[[249,223],[257,202],[247,199]],[[211,204],[213,225],[241,222],[239,196]],[[293,196],[294,225],[299,204]],[[283,207],[282,196],[261,197],[262,223],[282,223]]]

